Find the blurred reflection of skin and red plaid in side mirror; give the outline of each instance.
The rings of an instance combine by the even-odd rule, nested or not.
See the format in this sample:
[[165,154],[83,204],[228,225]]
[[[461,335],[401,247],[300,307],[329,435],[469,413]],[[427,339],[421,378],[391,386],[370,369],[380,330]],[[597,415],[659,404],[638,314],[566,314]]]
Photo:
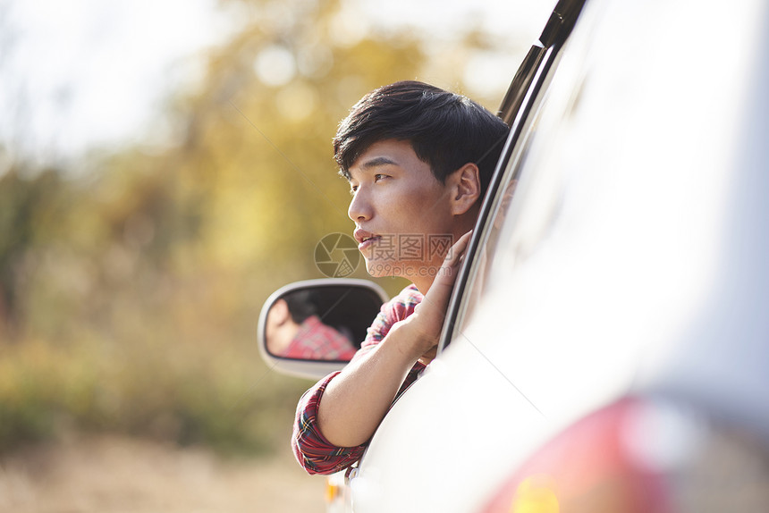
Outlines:
[[342,333],[323,324],[308,302],[291,295],[275,301],[267,312],[265,337],[276,357],[349,360],[356,350]]

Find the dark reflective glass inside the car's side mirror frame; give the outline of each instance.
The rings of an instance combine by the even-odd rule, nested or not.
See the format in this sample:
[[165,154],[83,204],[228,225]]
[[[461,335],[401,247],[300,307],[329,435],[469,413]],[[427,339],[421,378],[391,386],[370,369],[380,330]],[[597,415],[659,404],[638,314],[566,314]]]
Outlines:
[[291,290],[269,305],[263,328],[266,349],[275,357],[349,361],[381,305],[372,290]]

